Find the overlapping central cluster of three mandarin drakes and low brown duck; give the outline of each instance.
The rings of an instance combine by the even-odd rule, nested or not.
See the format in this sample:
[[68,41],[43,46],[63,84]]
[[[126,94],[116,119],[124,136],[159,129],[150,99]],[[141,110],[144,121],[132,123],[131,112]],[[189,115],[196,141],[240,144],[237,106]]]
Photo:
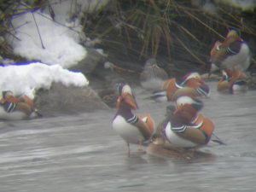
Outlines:
[[[129,84],[118,86],[118,111],[113,118],[113,130],[127,143],[130,154],[130,143],[140,148],[151,143],[160,148],[198,148],[206,145],[214,131],[211,119],[204,117],[202,96],[209,96],[210,89],[201,80],[199,73],[189,73],[181,82],[168,79],[162,85],[166,100],[175,103],[166,108],[165,119],[155,127],[154,119],[149,114],[136,115],[137,101]],[[167,149],[169,148],[169,149]]]

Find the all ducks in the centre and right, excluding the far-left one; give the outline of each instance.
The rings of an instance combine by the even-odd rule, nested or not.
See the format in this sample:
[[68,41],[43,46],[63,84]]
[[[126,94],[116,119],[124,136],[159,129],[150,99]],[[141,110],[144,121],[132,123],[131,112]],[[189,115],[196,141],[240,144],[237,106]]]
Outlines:
[[[247,44],[236,30],[231,30],[223,43],[217,42],[211,51],[211,72],[221,71],[217,90],[232,93],[245,90],[246,76],[243,73],[249,67],[250,53]],[[154,59],[146,62],[141,73],[141,85],[151,90],[149,99],[172,102],[166,108],[166,116],[156,127],[149,114],[136,115],[136,98],[129,84],[118,86],[118,111],[112,125],[120,137],[125,140],[130,154],[130,143],[138,144],[142,149],[147,145],[148,153],[170,154],[183,157],[193,156],[196,148],[201,148],[211,140],[214,123],[201,113],[202,97],[210,95],[209,86],[199,73],[186,74],[183,79],[168,79],[164,69],[158,67]]]

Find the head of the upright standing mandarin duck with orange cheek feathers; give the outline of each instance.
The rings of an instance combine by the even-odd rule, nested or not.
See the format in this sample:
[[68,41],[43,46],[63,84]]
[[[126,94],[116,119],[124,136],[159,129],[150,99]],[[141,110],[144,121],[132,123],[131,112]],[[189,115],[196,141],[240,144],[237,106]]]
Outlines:
[[126,107],[136,110],[138,108],[135,96],[129,84],[118,85],[117,108]]

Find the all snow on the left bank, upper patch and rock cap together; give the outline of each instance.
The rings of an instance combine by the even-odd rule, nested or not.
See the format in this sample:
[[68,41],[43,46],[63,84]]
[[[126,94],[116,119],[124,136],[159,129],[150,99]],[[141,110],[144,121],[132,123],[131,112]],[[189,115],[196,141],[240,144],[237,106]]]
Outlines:
[[14,32],[8,37],[9,44],[16,55],[31,63],[13,65],[10,60],[1,60],[0,91],[11,90],[14,95],[34,98],[38,89],[49,89],[53,82],[66,86],[89,84],[83,73],[66,68],[76,65],[87,55],[86,49],[79,44],[87,39],[79,24],[82,11],[91,13],[101,9],[109,0],[49,2],[55,13],[54,20],[48,6],[33,12],[28,10],[12,19],[13,28],[10,29]]

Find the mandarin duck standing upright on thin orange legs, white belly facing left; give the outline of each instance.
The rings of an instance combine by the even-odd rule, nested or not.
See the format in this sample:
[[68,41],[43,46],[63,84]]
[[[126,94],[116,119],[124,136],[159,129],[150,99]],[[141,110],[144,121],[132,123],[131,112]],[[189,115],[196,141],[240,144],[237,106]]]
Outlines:
[[118,86],[117,108],[112,121],[113,130],[125,140],[130,154],[130,143],[138,144],[141,149],[142,144],[150,139],[154,133],[154,119],[149,114],[142,116],[132,113],[138,106],[128,84]]

